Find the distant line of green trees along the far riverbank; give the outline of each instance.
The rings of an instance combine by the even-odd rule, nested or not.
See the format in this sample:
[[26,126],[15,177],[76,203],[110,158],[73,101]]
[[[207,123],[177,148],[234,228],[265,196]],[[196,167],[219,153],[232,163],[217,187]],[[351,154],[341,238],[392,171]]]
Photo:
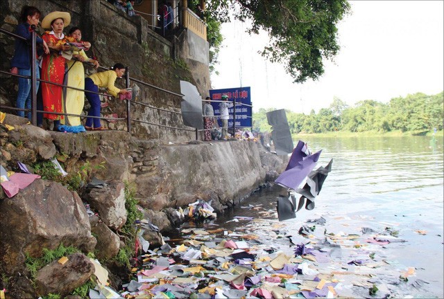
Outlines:
[[[384,104],[375,100],[364,100],[349,107],[334,97],[329,108],[309,115],[286,110],[291,134],[327,132],[411,132],[425,134],[434,128],[443,129],[444,93],[427,96],[415,93],[405,98],[392,98]],[[259,109],[253,113],[253,129],[270,132],[266,112],[275,109]]]

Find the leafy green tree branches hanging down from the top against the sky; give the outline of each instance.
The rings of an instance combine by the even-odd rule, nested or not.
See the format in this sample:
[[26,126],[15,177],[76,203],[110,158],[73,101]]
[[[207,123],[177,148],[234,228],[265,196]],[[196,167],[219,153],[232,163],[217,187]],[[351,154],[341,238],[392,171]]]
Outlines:
[[345,0],[212,0],[207,12],[221,22],[230,15],[251,21],[248,33],[268,33],[261,52],[271,62],[282,62],[294,79],[317,80],[324,73],[323,59],[339,52],[337,24],[350,12]]

